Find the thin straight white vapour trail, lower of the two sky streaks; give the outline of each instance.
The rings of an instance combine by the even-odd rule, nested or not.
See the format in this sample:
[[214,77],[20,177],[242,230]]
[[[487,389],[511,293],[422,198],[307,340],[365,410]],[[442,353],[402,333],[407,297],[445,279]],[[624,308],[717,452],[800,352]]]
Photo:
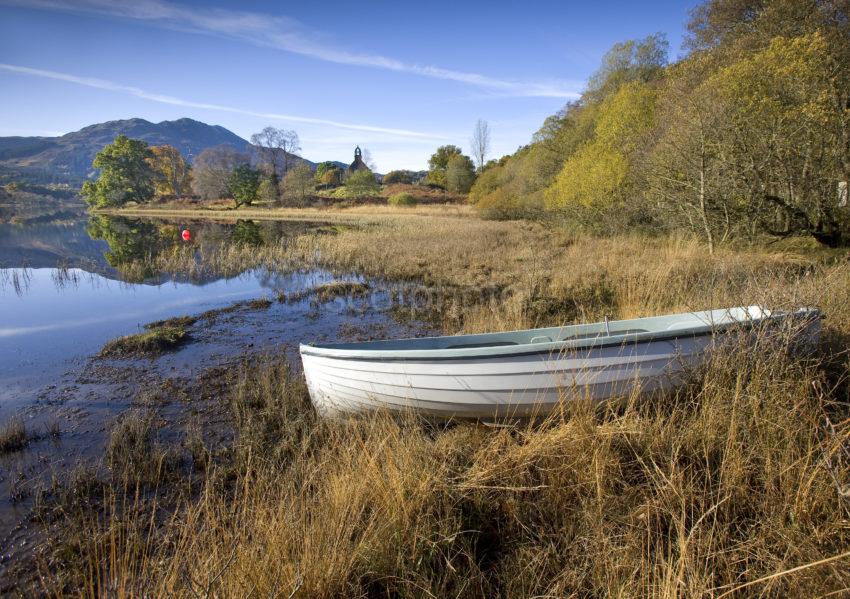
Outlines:
[[409,129],[393,129],[390,127],[376,127],[372,125],[362,125],[355,123],[342,123],[340,121],[333,121],[328,119],[317,119],[312,117],[304,117],[304,116],[296,116],[292,114],[280,114],[277,112],[259,112],[255,110],[246,110],[244,108],[235,108],[233,106],[224,106],[222,104],[208,104],[206,102],[193,102],[191,100],[184,100],[182,98],[177,98],[175,96],[166,96],[163,94],[157,94],[154,92],[149,92],[144,89],[123,85],[120,83],[115,83],[113,81],[107,81],[106,79],[97,79],[94,77],[80,77],[77,75],[72,75],[69,73],[60,73],[58,71],[48,71],[44,69],[34,69],[31,67],[13,65],[13,64],[5,64],[0,63],[0,70],[9,71],[12,73],[19,73],[22,75],[31,75],[34,77],[42,77],[45,79],[54,79],[57,81],[66,81],[68,83],[75,83],[77,85],[84,85],[86,87],[93,87],[96,89],[103,89],[107,91],[117,92],[121,94],[127,94],[130,96],[135,96],[137,98],[142,98],[144,100],[150,100],[152,102],[159,102],[160,104],[170,104],[172,106],[185,106],[188,108],[200,108],[202,110],[216,110],[219,112],[229,112],[232,114],[242,114],[246,116],[258,117],[261,119],[273,120],[273,121],[287,121],[292,123],[307,123],[310,125],[325,125],[328,127],[335,127],[338,129],[348,129],[350,131],[366,131],[371,133],[382,133],[386,135],[393,135],[396,137],[405,137],[411,139],[432,139],[432,140],[441,140],[444,139],[441,136],[434,135],[431,133],[422,133],[419,131],[411,131]]

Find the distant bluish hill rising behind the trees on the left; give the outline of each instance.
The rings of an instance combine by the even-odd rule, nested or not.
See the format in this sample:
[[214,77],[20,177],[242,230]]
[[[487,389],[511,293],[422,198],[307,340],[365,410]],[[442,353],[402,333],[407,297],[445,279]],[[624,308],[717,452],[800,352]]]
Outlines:
[[76,185],[92,174],[95,154],[121,134],[154,146],[172,145],[190,161],[211,146],[224,144],[243,152],[251,147],[224,127],[192,119],[161,123],[126,119],[90,125],[61,137],[0,137],[0,173]]

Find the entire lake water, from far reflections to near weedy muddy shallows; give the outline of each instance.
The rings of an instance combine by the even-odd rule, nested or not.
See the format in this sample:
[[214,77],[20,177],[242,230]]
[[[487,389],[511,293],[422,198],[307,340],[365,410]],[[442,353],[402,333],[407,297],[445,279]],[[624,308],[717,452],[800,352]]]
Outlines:
[[[250,356],[297,368],[301,342],[428,330],[393,319],[386,288],[357,274],[238,264],[222,272],[193,251],[250,254],[322,227],[80,214],[0,224],[0,423],[14,429],[0,452],[0,570],[32,542],[34,490],[99,456],[139,396],[173,381],[191,394],[187,381]],[[169,252],[185,267],[163,270]],[[187,406],[163,412],[175,430],[203,411]]]

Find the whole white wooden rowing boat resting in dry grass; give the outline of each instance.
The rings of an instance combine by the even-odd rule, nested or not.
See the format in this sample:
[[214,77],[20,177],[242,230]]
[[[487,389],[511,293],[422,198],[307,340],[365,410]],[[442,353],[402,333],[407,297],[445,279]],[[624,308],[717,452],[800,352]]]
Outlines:
[[820,314],[759,306],[483,335],[301,345],[310,397],[325,415],[414,410],[443,418],[542,416],[574,397],[673,388],[718,336]]

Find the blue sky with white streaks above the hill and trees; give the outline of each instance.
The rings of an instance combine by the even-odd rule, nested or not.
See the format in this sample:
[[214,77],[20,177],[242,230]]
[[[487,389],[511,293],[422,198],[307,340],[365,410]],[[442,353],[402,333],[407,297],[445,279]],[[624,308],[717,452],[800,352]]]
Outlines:
[[294,129],[314,161],[359,144],[386,172],[468,150],[483,118],[498,157],[614,43],[661,31],[675,58],[695,4],[0,0],[0,135],[186,116]]

